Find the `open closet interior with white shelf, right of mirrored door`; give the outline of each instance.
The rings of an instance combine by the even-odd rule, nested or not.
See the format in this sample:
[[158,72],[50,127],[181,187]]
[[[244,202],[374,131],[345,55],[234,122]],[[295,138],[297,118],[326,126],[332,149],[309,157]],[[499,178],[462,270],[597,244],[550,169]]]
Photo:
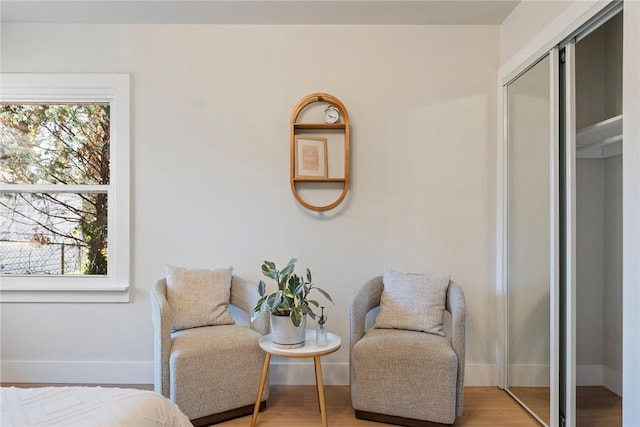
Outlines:
[[622,26],[620,12],[575,50],[578,426],[623,425]]

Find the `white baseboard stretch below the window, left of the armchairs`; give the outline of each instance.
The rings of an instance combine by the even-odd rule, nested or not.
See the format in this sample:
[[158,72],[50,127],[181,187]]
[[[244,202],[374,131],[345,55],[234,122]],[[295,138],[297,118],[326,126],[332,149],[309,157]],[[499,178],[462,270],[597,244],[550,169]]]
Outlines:
[[153,384],[153,362],[3,360],[0,378],[7,383]]

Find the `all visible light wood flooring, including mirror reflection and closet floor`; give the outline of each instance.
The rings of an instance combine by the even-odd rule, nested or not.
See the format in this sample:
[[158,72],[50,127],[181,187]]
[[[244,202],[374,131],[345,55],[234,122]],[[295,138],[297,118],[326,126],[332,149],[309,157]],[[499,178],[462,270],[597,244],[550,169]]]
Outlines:
[[[50,385],[88,384],[20,384],[0,383],[3,387],[45,387]],[[151,384],[109,384],[102,387],[153,390]],[[321,425],[315,386],[271,386],[267,409],[258,416],[259,427],[316,427]],[[506,392],[496,387],[465,387],[464,414],[456,427],[539,427],[540,424]],[[529,406],[549,414],[549,389],[520,387],[517,395]],[[349,386],[325,386],[327,416],[331,426],[382,426],[387,424],[357,420],[351,407]],[[579,427],[622,426],[622,398],[604,387],[578,387],[577,425]],[[293,408],[293,409],[292,409]],[[546,408],[546,412],[545,412]],[[220,427],[246,427],[251,417],[217,424]],[[434,424],[440,425],[440,424]]]

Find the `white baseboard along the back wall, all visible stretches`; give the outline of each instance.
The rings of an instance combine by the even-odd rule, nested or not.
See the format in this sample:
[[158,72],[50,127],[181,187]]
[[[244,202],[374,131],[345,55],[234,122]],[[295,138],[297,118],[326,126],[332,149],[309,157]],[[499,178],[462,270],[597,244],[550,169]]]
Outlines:
[[[466,386],[496,386],[496,366],[467,364]],[[348,385],[348,363],[322,363],[326,385]],[[15,361],[0,362],[0,379],[7,383],[153,384],[153,362]],[[311,360],[272,361],[273,385],[313,385]]]

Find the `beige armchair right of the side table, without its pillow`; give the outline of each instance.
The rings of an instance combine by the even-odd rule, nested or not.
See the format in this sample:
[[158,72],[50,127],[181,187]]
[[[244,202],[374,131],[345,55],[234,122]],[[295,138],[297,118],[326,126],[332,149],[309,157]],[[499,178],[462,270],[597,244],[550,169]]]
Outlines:
[[454,282],[444,288],[451,333],[439,336],[402,329],[367,331],[367,313],[380,305],[383,288],[383,278],[376,277],[351,300],[351,399],[356,418],[404,426],[454,423],[462,415],[464,399],[462,289]]

